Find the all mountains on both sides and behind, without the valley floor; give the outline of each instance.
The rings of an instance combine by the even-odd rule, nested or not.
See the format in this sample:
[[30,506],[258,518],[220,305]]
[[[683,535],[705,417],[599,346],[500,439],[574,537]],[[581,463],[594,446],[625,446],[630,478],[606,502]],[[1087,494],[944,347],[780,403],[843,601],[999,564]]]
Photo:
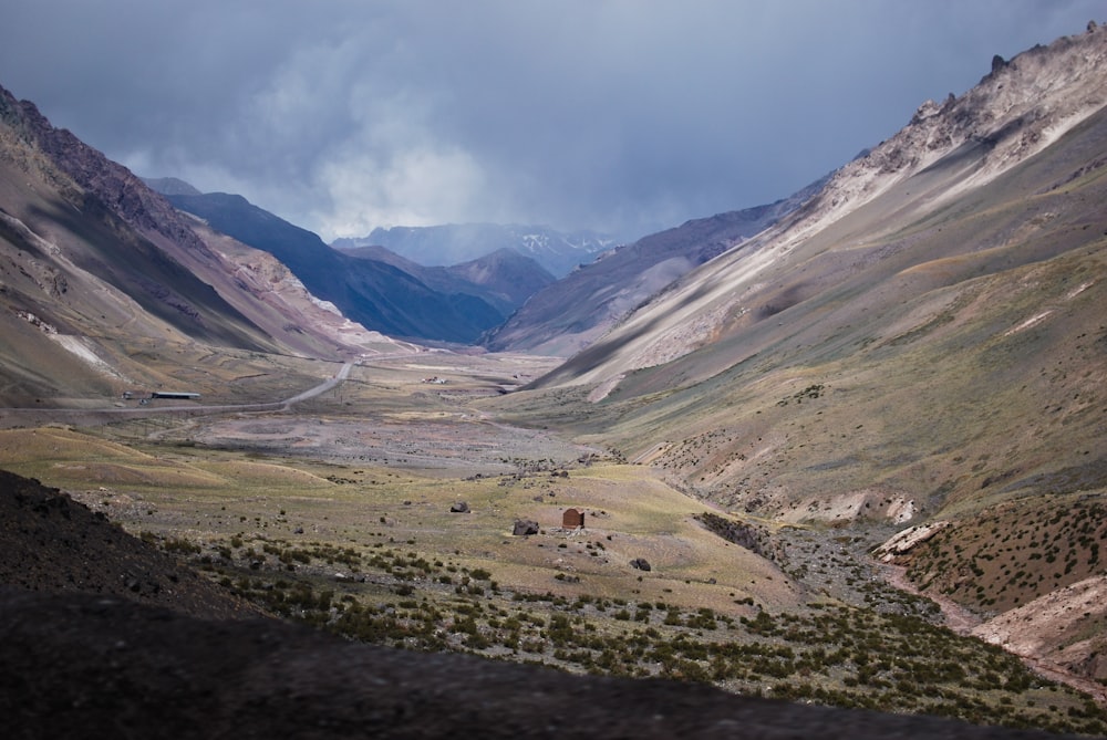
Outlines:
[[157,185],[0,93],[7,405],[170,382],[143,361],[166,347],[566,356],[497,418],[768,528],[886,534],[981,637],[1107,680],[1107,29],[995,58],[793,198],[558,281],[518,250],[427,268],[400,233],[335,249]]

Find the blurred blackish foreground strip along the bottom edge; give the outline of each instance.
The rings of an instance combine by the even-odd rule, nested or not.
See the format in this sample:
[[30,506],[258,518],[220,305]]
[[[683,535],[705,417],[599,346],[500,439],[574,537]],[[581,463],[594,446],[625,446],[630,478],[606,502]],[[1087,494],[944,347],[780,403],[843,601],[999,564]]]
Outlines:
[[0,717],[22,738],[1046,738],[351,644],[273,619],[0,591]]

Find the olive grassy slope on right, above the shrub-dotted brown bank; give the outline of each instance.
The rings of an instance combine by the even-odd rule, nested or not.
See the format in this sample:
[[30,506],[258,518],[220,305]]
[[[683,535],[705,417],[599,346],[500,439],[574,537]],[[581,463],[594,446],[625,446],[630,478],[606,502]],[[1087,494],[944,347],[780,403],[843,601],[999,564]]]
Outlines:
[[[770,513],[872,484],[937,513],[977,498],[985,480],[1098,459],[1107,454],[1097,399],[1107,168],[1068,176],[1104,131],[1100,115],[956,212],[929,213],[841,257],[842,240],[889,206],[858,213],[836,243],[811,246],[815,256],[762,294],[789,292],[811,261],[824,263],[820,274],[848,261],[841,280],[632,374],[602,404],[558,414],[573,394],[562,389],[549,403],[535,393],[531,410],[513,399],[509,411],[550,413],[631,458],[663,449],[656,462],[715,500],[744,506],[778,491]],[[803,397],[813,386],[818,397]]]

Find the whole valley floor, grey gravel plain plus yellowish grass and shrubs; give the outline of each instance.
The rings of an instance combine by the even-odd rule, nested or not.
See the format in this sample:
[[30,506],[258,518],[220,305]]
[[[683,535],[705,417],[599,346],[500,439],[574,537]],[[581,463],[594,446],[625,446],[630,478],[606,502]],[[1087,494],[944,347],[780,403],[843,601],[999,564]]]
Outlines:
[[[542,362],[376,358],[275,404],[283,410],[205,400],[190,414],[9,428],[0,456],[275,616],[358,639],[979,723],[1107,728],[1085,696],[889,585],[869,551],[893,528],[727,511],[618,450],[506,424],[505,400],[528,392],[504,388]],[[588,402],[558,403],[571,416]],[[562,527],[570,508],[583,528]],[[517,522],[534,530],[516,534]]]

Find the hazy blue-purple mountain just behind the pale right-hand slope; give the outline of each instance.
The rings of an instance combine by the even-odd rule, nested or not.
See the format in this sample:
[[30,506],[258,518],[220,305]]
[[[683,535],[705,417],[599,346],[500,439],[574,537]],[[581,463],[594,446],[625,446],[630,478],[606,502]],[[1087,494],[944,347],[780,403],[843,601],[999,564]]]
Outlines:
[[535,294],[482,343],[493,351],[569,356],[692,268],[795,210],[824,180],[768,206],[718,213],[600,254]]

